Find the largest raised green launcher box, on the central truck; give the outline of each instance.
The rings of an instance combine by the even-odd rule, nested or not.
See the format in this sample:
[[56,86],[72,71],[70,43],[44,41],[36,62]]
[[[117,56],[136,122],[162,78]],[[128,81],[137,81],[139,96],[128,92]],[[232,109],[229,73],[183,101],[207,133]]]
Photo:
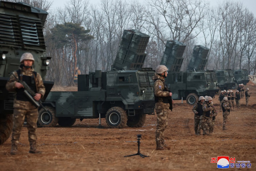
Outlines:
[[146,47],[149,35],[138,30],[124,30],[115,61],[111,70],[142,68],[146,58]]

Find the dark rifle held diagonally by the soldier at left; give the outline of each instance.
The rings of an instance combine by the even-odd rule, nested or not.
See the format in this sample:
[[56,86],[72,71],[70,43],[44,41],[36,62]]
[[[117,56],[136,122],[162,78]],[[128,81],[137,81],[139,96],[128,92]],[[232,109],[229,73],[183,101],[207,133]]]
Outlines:
[[33,97],[35,96],[35,92],[33,90],[31,90],[31,88],[27,85],[27,83],[19,80],[19,78],[17,78],[13,73],[12,75],[14,76],[14,78],[17,80],[17,82],[21,83],[24,87],[24,93],[27,96],[27,98],[29,99],[29,101],[36,107],[38,108],[39,106],[41,106],[45,111],[47,111],[45,109],[45,107],[42,105],[42,102],[40,100],[36,101]]

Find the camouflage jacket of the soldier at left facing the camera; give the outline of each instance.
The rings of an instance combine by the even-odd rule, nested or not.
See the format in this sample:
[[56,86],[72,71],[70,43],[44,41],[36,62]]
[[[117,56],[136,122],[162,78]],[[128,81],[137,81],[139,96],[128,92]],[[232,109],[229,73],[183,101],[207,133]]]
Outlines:
[[[32,68],[31,70],[23,70],[22,68],[20,68],[21,70],[21,74],[25,75],[25,76],[32,76],[32,72],[34,71],[34,69]],[[13,74],[18,78],[18,74],[16,71],[13,72]],[[37,88],[37,93],[40,93],[42,95],[42,97],[44,96],[45,93],[45,87],[42,81],[42,77],[40,76],[39,73],[36,74],[36,88]],[[8,91],[12,91],[15,92],[16,87],[15,87],[15,83],[16,83],[16,79],[14,78],[13,75],[11,75],[11,77],[9,78],[9,80],[7,81],[5,88]],[[14,103],[13,103],[13,108],[16,109],[36,109],[36,107],[30,102],[30,101],[20,101],[17,100],[16,98],[14,99]]]

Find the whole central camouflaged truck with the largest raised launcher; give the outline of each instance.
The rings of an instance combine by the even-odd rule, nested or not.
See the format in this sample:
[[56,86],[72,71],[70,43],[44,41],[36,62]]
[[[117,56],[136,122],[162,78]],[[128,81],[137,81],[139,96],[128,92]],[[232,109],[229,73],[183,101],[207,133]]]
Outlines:
[[141,68],[149,36],[124,30],[111,71],[78,75],[78,91],[51,91],[39,111],[42,127],[72,126],[76,119],[105,118],[111,128],[142,127],[154,114],[152,68]]

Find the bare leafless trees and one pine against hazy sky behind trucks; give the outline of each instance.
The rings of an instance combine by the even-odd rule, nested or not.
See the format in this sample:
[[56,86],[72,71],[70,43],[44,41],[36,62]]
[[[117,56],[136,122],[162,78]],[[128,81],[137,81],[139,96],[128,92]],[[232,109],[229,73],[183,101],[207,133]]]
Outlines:
[[240,2],[210,7],[205,0],[101,0],[98,5],[70,0],[54,10],[50,0],[22,2],[49,14],[44,26],[47,55],[52,57],[47,80],[56,86],[74,84],[76,67],[81,74],[110,70],[125,29],[150,36],[144,67],[155,69],[166,41],[178,40],[186,44],[183,71],[194,46],[202,45],[210,49],[206,69],[256,74],[256,18]]

